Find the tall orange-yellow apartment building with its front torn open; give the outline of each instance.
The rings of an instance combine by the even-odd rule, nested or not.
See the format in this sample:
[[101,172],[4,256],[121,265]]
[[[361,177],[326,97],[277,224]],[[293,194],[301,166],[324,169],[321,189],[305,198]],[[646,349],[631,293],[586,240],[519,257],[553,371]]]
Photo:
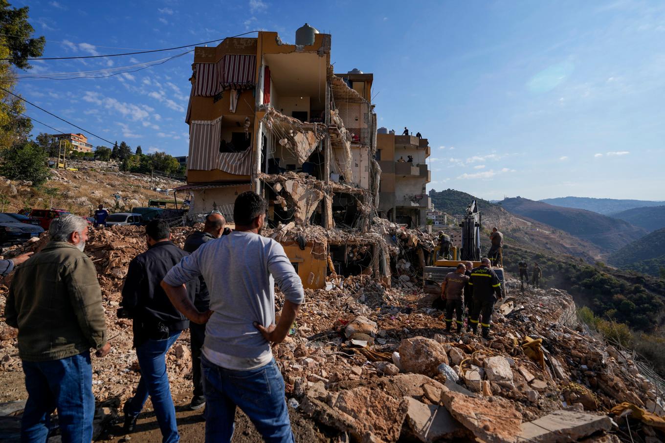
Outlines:
[[176,190],[192,194],[190,212],[233,220],[236,196],[253,190],[307,287],[328,273],[390,275],[370,232],[380,185],[372,74],[334,74],[331,35],[307,24],[295,45],[261,31],[197,47],[192,71],[188,184]]

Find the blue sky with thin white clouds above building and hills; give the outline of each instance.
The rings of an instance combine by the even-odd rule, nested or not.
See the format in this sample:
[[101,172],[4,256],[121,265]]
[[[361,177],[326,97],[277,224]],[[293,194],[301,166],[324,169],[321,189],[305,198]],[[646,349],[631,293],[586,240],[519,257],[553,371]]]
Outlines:
[[[136,4],[138,3],[138,5]],[[15,1],[44,57],[158,49],[265,29],[332,34],[335,72],[374,73],[379,126],[432,147],[429,188],[487,199],[665,200],[662,1]],[[157,61],[44,61],[29,73]],[[21,80],[19,91],[108,140],[186,155],[192,54],[130,75]],[[27,114],[78,132],[28,106]],[[53,132],[35,122],[35,134]],[[94,145],[106,144],[94,137]]]

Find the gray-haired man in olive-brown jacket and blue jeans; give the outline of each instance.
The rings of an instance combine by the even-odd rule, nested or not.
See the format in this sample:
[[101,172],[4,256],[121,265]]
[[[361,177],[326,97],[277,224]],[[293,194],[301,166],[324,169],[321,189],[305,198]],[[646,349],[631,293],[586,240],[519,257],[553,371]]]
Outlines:
[[57,408],[63,441],[92,440],[94,396],[90,348],[110,351],[102,292],[92,261],[83,253],[84,218],[66,214],[49,227],[51,241],[17,269],[5,317],[19,329],[28,400],[21,441],[45,442]]

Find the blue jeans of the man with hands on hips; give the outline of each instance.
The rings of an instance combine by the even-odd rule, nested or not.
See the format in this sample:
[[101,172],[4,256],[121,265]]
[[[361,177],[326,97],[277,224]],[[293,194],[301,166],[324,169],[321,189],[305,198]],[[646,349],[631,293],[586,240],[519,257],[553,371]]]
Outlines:
[[205,392],[205,441],[230,442],[235,407],[247,414],[268,443],[293,443],[284,379],[275,360],[258,369],[230,370],[201,355]]

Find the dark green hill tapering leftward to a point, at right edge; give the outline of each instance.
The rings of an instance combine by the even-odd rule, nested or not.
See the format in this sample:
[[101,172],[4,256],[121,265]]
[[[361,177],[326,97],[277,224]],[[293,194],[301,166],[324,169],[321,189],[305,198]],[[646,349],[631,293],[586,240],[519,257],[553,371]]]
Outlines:
[[665,268],[665,227],[622,247],[607,261],[622,269],[660,275],[660,268]]

